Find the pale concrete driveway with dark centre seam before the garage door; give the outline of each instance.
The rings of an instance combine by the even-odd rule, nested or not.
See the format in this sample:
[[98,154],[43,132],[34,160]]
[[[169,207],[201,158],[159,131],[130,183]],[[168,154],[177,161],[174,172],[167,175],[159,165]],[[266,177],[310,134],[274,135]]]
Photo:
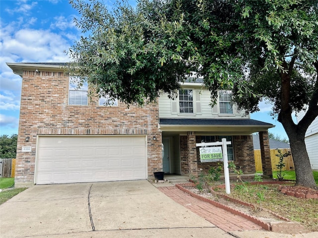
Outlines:
[[33,186],[0,206],[0,237],[232,236],[139,180]]

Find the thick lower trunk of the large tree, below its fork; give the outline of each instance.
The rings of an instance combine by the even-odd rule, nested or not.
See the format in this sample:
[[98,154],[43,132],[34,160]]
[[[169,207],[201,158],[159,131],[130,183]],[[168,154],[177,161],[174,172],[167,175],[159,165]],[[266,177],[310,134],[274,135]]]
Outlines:
[[295,185],[318,189],[306,149],[305,135],[303,135],[302,133],[296,133],[296,131],[295,133],[289,132],[287,134],[289,137],[290,148],[295,165]]

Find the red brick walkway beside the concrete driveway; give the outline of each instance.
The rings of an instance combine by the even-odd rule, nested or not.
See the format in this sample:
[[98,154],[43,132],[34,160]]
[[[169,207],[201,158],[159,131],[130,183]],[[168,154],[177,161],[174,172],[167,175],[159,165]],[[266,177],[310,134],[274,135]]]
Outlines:
[[262,230],[262,227],[238,215],[200,201],[175,186],[162,186],[158,189],[175,202],[203,217],[225,232]]

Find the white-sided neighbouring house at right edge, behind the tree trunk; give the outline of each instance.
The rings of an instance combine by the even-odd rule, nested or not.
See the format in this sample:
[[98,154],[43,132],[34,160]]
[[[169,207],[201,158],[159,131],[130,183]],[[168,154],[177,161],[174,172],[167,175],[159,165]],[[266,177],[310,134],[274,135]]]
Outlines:
[[[305,112],[296,115],[297,123],[303,119]],[[318,117],[310,124],[305,134],[305,143],[310,164],[313,170],[318,170]]]

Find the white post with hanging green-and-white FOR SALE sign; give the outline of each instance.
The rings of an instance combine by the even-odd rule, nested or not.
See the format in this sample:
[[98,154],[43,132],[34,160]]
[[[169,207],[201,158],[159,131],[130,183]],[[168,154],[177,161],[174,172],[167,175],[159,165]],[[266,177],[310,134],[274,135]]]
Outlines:
[[[222,161],[224,165],[224,179],[225,179],[225,191],[227,194],[231,193],[230,190],[230,173],[229,173],[229,163],[228,163],[228,147],[231,141],[227,141],[226,138],[222,138],[222,142],[209,142],[209,143],[197,143],[196,146],[201,146],[200,148],[200,159],[201,162],[213,162]],[[216,145],[222,145],[221,147],[215,147]],[[214,146],[214,147],[206,147]],[[223,151],[223,154],[222,154]]]

